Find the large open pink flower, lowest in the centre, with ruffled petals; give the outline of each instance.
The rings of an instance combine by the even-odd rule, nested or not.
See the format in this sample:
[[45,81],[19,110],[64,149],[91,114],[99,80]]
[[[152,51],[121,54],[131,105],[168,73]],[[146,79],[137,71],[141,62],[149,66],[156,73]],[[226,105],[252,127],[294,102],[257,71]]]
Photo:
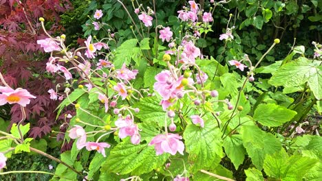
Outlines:
[[179,152],[183,155],[184,143],[180,139],[182,139],[182,136],[179,136],[179,134],[159,134],[152,139],[149,145],[155,145],[154,149],[157,155],[163,154],[164,152],[171,155]]

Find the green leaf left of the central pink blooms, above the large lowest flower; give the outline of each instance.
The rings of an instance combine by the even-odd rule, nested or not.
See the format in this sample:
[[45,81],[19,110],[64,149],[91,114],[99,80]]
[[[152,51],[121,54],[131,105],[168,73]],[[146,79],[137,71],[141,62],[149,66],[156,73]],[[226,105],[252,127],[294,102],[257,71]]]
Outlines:
[[140,112],[134,115],[141,119],[141,121],[154,121],[155,123],[164,123],[164,116],[166,112],[160,106],[160,99],[157,97],[144,97],[136,102],[134,108],[140,108]]

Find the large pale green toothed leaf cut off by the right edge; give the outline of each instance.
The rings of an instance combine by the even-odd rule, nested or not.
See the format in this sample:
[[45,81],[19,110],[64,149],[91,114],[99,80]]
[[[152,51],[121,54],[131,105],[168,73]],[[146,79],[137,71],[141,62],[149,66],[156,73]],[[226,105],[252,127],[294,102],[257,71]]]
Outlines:
[[268,83],[273,86],[294,87],[308,82],[316,99],[322,99],[322,66],[300,57],[284,64],[276,71]]

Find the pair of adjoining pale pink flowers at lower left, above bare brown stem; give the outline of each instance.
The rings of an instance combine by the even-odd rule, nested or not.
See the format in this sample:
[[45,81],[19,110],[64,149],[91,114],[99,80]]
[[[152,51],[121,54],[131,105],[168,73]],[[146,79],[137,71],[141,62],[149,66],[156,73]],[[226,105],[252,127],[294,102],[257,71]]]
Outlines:
[[105,155],[105,147],[111,147],[108,143],[96,143],[86,142],[87,136],[85,130],[80,125],[74,125],[75,127],[69,130],[68,136],[72,139],[77,138],[76,147],[77,149],[83,149],[86,147],[88,151],[96,150],[98,153]]

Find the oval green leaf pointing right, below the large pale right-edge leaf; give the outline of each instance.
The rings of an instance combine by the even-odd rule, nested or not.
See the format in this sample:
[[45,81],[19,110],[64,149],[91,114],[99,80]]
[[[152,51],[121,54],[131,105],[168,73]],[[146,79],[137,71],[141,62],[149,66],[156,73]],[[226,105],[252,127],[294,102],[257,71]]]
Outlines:
[[276,104],[259,104],[254,119],[262,125],[279,126],[290,121],[297,112]]

